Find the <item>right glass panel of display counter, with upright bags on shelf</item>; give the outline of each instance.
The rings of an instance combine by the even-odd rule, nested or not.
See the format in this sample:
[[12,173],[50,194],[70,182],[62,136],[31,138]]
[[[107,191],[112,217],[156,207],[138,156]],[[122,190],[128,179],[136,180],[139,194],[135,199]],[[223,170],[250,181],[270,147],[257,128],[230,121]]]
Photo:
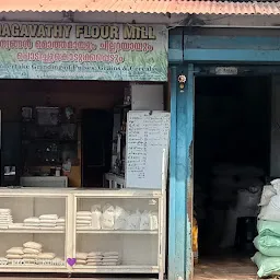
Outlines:
[[158,198],[77,199],[75,267],[158,266]]

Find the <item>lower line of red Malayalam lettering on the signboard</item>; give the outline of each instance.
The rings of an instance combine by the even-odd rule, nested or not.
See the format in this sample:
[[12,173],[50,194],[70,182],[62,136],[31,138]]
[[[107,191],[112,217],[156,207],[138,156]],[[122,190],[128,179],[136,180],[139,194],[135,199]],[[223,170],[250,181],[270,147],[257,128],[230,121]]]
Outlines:
[[119,55],[102,54],[49,54],[49,52],[19,52],[20,61],[42,61],[45,63],[52,62],[112,62],[122,63],[124,57]]

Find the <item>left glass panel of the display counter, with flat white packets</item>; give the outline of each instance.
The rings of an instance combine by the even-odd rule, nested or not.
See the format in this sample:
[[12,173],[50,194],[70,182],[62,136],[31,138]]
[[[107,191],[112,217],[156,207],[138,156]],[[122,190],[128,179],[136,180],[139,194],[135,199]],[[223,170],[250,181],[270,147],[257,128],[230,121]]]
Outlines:
[[0,197],[0,269],[66,267],[66,198]]

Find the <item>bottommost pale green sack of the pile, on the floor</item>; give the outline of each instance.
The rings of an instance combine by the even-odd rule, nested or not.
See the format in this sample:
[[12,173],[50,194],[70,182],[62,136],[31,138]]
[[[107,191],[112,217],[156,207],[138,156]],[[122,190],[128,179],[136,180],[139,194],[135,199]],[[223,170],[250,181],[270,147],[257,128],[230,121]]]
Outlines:
[[258,267],[258,277],[268,277],[280,271],[280,257],[267,257],[259,252],[252,258]]

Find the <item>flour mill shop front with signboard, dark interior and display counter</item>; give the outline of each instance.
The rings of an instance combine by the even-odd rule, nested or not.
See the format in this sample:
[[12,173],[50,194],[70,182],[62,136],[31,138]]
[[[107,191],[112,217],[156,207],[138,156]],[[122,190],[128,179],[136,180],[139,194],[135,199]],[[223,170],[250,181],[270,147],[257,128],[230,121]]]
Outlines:
[[0,33],[0,271],[163,279],[166,26],[7,21]]

